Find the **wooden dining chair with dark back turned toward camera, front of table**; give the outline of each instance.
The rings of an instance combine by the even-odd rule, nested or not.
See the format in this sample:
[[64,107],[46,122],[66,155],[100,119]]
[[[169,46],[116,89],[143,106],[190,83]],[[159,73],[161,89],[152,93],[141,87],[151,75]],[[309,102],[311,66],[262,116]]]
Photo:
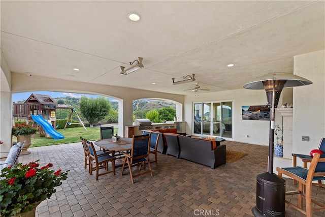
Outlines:
[[[134,183],[135,177],[147,173],[150,173],[151,177],[153,176],[150,161],[148,161],[149,147],[150,147],[150,135],[133,136],[131,152],[126,153],[124,151],[121,151],[121,153],[124,154],[125,156],[121,175],[123,175],[125,164],[127,164],[132,183]],[[146,170],[145,168],[146,162],[148,162],[149,170]],[[137,174],[133,174],[134,172],[132,171],[132,167],[139,166],[139,170],[141,170],[142,163],[144,163],[144,170]]]

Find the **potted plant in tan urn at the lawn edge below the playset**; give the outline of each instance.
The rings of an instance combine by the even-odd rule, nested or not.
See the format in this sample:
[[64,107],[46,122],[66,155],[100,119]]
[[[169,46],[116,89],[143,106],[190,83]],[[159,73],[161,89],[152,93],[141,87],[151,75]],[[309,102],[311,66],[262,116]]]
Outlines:
[[25,123],[17,124],[12,128],[12,135],[17,137],[17,142],[23,143],[26,140],[25,145],[20,154],[29,154],[27,148],[31,145],[31,135],[37,131],[36,127],[26,125]]

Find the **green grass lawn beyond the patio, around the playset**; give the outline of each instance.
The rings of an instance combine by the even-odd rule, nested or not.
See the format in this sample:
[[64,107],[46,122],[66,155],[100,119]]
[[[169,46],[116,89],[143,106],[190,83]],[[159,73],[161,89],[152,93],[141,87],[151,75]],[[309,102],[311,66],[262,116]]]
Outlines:
[[[63,134],[64,139],[53,139],[53,137],[39,137],[39,132],[36,135],[31,137],[31,146],[30,147],[38,147],[38,146],[47,146],[47,145],[58,145],[58,144],[66,144],[66,143],[74,143],[80,142],[80,136],[83,138],[93,141],[101,139],[100,128],[86,128],[87,131],[83,127],[81,128],[67,128],[66,130],[59,129],[57,132]],[[118,128],[114,128],[114,133],[118,133]],[[17,138],[13,136],[13,141],[17,141]]]

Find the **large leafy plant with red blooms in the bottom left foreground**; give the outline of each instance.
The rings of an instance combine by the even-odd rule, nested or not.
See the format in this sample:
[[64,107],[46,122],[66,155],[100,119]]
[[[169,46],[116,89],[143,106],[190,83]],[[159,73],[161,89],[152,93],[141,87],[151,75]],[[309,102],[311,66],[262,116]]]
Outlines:
[[50,170],[53,166],[51,163],[39,169],[38,161],[24,165],[19,163],[1,171],[1,216],[12,216],[34,209],[37,203],[56,192],[54,187],[67,179],[69,170]]

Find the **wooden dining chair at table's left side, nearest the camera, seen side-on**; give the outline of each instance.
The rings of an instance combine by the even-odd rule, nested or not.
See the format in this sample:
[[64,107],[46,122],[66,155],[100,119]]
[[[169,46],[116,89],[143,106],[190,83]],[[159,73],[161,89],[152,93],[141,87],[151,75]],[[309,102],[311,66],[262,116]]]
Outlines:
[[[85,144],[88,148],[88,155],[89,155],[89,174],[92,175],[92,171],[96,171],[96,180],[101,175],[105,175],[108,173],[113,173],[115,175],[115,157],[110,156],[110,154],[105,153],[100,156],[97,155],[96,150],[92,144],[87,140],[84,140]],[[111,162],[112,170],[108,170],[108,163]],[[94,168],[93,168],[94,167]],[[106,172],[101,172],[100,169],[105,169]]]

